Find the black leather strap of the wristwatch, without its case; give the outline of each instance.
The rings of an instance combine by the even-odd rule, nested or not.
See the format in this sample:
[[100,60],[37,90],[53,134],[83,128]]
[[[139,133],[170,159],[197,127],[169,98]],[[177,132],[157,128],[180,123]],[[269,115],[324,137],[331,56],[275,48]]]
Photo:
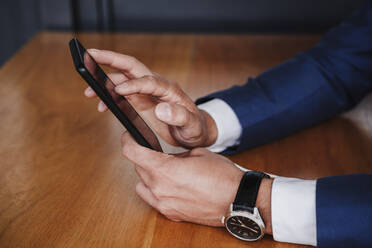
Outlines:
[[234,211],[245,210],[253,213],[262,178],[270,177],[259,171],[247,171],[244,173],[233,202]]

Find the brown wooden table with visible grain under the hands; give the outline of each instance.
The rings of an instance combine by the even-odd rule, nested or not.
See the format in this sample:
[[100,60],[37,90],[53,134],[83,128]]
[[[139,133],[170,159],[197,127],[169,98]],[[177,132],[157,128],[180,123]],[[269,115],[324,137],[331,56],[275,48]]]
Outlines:
[[[122,126],[83,97],[70,33],[41,33],[0,70],[0,247],[295,247],[244,243],[223,228],[153,211],[121,156]],[[194,99],[242,84],[318,36],[81,34],[136,56]],[[230,157],[250,169],[317,178],[372,172],[371,98],[344,117]]]

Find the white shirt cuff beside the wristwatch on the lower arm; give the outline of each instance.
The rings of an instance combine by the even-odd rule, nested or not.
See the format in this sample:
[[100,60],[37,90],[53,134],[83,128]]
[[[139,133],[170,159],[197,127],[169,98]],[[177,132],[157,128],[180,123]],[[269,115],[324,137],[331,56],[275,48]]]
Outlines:
[[277,177],[271,193],[274,240],[316,246],[316,180]]

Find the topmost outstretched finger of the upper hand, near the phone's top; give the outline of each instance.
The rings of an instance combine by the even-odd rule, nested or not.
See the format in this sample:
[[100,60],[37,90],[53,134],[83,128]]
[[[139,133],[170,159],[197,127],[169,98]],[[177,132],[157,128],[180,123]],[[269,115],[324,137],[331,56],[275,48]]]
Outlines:
[[97,49],[88,49],[88,52],[97,63],[121,70],[130,78],[152,75],[144,64],[132,56]]

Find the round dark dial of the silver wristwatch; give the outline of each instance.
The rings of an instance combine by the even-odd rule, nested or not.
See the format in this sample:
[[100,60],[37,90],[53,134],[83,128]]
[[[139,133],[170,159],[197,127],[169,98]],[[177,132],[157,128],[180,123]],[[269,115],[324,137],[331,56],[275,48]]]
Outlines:
[[243,240],[256,240],[261,237],[261,228],[257,223],[244,216],[229,217],[226,220],[226,228]]

